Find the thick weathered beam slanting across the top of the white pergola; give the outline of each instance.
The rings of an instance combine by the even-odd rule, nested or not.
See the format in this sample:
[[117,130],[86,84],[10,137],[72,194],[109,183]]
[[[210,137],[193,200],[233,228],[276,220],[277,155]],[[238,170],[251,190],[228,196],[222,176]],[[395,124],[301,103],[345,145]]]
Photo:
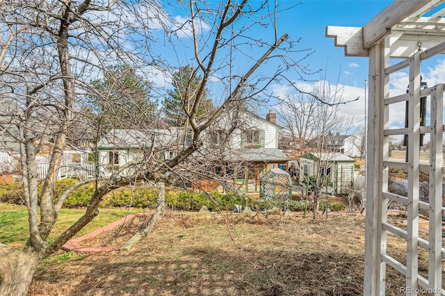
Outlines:
[[370,49],[375,42],[387,35],[389,30],[412,13],[438,0],[396,0],[363,27],[363,47]]

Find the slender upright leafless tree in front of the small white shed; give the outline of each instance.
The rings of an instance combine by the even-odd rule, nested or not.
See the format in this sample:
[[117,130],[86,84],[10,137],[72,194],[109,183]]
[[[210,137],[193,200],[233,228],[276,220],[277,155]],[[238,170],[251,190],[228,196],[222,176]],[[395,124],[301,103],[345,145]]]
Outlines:
[[339,104],[344,103],[343,90],[323,79],[315,84],[311,93],[286,95],[279,106],[280,118],[294,142],[293,154],[297,160],[307,151],[319,155],[318,169],[311,176],[300,174],[312,193],[314,218],[321,195],[327,196],[327,188],[332,186],[326,167],[332,165],[333,154],[326,152],[337,151],[330,139],[333,134],[347,133],[352,127],[352,119],[343,117],[339,112]]

